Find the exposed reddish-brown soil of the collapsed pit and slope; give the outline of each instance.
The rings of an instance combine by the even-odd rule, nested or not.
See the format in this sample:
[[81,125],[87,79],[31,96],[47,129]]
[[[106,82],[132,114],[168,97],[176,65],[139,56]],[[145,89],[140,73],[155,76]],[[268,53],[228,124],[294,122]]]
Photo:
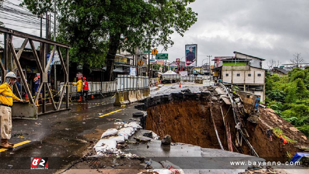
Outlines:
[[[235,121],[232,108],[223,102],[201,102],[199,100],[188,100],[171,102],[149,107],[147,109],[146,129],[157,133],[161,138],[171,135],[172,142],[182,142],[201,146],[203,148],[220,149],[214,126],[211,122],[209,107],[211,107],[214,122],[225,150],[228,150],[225,127],[220,106],[223,110],[224,120],[230,124],[233,151],[250,155],[250,148],[243,141],[242,147],[235,147]],[[257,154],[265,159],[276,161],[289,160],[287,156],[292,156],[296,152],[304,152],[294,146],[308,146],[303,133],[295,131],[294,127],[276,115],[272,110],[260,109],[260,117],[257,123],[247,122],[243,118],[249,137],[250,144],[254,147]],[[266,130],[279,127],[284,135],[296,140],[296,143],[283,144],[278,137],[273,135],[272,141],[266,136]]]

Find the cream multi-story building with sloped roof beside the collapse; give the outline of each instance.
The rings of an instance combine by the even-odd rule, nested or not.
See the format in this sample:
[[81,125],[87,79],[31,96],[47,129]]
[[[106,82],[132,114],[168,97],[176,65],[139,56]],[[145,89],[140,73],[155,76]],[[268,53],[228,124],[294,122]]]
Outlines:
[[221,59],[221,65],[214,68],[214,76],[218,76],[227,85],[237,85],[240,90],[261,96],[265,99],[265,69],[258,57],[234,52],[235,58]]

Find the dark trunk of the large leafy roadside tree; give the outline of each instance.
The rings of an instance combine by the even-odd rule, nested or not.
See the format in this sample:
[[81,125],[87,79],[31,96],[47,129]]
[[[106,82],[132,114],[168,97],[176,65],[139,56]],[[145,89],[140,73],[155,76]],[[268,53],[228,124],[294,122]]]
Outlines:
[[120,33],[111,35],[109,37],[109,46],[108,52],[106,55],[105,63],[106,63],[106,72],[104,73],[104,81],[112,81],[113,80],[113,69],[115,62],[115,55],[118,50],[120,43]]

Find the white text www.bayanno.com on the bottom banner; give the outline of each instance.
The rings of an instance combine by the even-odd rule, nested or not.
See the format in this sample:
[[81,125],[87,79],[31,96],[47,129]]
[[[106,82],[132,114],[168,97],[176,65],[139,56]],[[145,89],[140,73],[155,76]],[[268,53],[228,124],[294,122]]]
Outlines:
[[273,166],[282,166],[282,165],[286,165],[286,166],[299,166],[300,163],[299,161],[296,161],[296,162],[285,162],[285,163],[281,163],[281,162],[265,162],[265,161],[250,161],[248,160],[248,163],[246,163],[246,161],[230,161],[231,163],[231,166],[251,166],[251,165],[258,165],[258,166],[265,166],[265,165],[273,165]]

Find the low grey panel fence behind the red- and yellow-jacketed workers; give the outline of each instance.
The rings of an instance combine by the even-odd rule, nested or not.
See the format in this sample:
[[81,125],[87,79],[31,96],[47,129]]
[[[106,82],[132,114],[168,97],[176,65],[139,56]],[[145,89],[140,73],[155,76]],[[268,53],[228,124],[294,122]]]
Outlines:
[[[63,84],[61,83],[61,91],[63,89]],[[107,81],[107,82],[88,82],[88,95],[91,94],[104,94],[117,91],[117,82],[116,81]],[[68,94],[69,96],[78,96],[76,85],[68,85]]]

